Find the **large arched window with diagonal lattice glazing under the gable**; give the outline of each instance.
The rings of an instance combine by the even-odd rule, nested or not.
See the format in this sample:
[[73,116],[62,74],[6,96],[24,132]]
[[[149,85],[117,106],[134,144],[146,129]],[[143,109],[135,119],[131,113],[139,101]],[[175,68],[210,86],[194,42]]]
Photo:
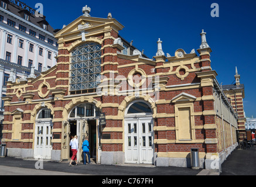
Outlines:
[[101,45],[86,43],[71,53],[70,92],[94,92],[101,73]]

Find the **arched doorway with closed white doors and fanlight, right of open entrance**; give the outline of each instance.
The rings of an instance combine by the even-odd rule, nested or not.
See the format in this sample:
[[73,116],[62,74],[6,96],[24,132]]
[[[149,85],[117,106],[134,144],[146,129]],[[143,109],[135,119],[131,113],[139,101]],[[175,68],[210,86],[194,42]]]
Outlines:
[[153,117],[148,103],[136,100],[125,110],[125,163],[153,164]]

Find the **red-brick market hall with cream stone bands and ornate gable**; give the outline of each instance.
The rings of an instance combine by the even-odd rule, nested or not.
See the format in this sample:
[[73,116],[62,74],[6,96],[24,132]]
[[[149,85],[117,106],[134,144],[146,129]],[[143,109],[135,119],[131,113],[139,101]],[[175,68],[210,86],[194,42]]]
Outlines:
[[93,18],[87,6],[83,12],[55,34],[57,65],[8,82],[8,154],[69,160],[77,134],[80,143],[89,136],[101,164],[190,167],[190,149],[198,148],[200,167],[216,169],[212,163],[237,146],[237,119],[211,69],[206,33],[199,56],[182,49],[165,55],[159,39],[152,59],[118,34],[124,26],[111,14]]

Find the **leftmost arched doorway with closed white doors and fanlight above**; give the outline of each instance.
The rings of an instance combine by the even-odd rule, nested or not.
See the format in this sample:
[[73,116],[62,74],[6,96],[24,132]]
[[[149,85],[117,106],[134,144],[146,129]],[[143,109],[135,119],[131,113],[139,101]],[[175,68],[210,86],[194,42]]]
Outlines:
[[51,159],[53,115],[50,109],[43,108],[36,115],[34,157]]

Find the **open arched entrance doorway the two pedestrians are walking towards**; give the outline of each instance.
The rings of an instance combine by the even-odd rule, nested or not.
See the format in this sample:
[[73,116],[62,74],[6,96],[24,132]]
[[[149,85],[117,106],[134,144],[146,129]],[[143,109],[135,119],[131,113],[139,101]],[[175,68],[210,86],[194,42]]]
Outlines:
[[[83,150],[81,149],[81,146],[86,137],[88,137],[90,144],[91,158],[94,158],[95,162],[99,162],[100,160],[98,151],[98,143],[100,140],[100,134],[98,133],[99,113],[100,109],[91,103],[81,103],[80,105],[75,106],[69,113],[69,129],[67,130],[69,136],[67,137],[67,143],[69,143],[73,136],[77,135],[79,147],[77,152],[78,162],[83,160]],[[67,151],[69,158],[71,158],[70,147],[67,147],[67,150],[63,151]]]

